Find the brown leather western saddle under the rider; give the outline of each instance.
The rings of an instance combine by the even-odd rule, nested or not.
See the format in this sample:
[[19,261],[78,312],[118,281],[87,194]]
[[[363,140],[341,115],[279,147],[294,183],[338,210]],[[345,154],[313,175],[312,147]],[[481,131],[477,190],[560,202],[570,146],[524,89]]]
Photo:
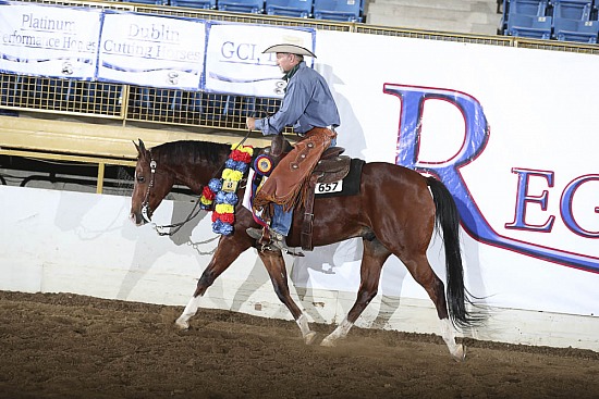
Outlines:
[[[292,148],[291,144],[282,135],[274,136],[271,146],[265,148],[262,152],[268,155],[272,164],[270,170],[274,169]],[[309,178],[306,179],[301,188],[300,203],[304,208],[301,232],[303,250],[311,251],[314,249],[314,200],[317,185],[337,183],[350,173],[352,159],[347,155],[342,155],[345,149],[342,147],[331,147],[325,150]]]

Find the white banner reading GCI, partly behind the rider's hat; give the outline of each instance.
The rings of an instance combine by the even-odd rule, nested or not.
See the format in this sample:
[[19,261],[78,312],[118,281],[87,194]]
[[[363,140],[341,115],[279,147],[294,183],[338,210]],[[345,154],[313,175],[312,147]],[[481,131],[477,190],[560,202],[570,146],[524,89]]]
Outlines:
[[[314,50],[315,30],[258,25],[209,25],[206,91],[281,98],[283,73],[270,46],[294,43]],[[318,54],[317,54],[318,55]],[[311,65],[311,59],[307,59]]]

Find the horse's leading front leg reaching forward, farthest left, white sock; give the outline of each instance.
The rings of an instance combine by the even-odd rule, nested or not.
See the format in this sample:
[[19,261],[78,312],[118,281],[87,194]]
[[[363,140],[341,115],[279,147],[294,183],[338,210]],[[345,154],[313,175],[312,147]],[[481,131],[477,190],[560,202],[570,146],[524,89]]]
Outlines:
[[190,302],[183,310],[183,313],[174,322],[181,329],[190,328],[190,319],[192,319],[199,308],[199,300],[206,290],[215,280],[237,259],[237,257],[252,246],[252,240],[245,234],[245,228],[239,233],[235,230],[233,236],[222,236],[210,263],[201,273],[197,282],[197,287]]

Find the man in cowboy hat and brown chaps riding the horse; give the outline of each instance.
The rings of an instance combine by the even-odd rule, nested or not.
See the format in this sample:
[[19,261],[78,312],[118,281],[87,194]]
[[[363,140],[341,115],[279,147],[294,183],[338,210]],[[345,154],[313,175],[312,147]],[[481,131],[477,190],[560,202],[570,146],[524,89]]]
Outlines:
[[283,101],[272,116],[261,120],[247,117],[247,128],[258,129],[267,136],[281,135],[285,126],[293,126],[300,139],[254,198],[254,213],[260,213],[260,219],[270,222],[269,227],[250,227],[247,234],[256,240],[269,239],[269,245],[279,250],[289,250],[285,238],[291,228],[293,208],[322,152],[335,145],[340,117],[327,82],[304,61],[305,55],[316,58],[311,51],[285,43],[271,46],[264,53],[276,53],[277,65],[284,73]]

